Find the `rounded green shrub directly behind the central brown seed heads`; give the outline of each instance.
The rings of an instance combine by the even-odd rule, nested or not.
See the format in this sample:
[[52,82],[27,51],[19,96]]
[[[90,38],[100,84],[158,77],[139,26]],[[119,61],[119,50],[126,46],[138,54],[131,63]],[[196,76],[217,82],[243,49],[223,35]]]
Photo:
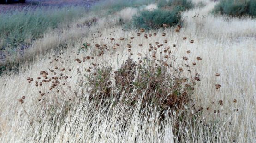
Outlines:
[[154,11],[142,11],[139,15],[132,19],[133,26],[145,29],[157,29],[168,24],[170,26],[176,25],[181,19],[181,7],[176,7],[172,11],[157,9]]

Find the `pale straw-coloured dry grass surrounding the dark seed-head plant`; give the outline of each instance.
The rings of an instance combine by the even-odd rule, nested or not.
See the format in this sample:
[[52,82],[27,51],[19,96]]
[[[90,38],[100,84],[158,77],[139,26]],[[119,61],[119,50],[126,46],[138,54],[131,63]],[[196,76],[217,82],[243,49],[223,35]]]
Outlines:
[[[91,29],[89,37],[82,38],[79,43],[68,43],[67,50],[39,55],[34,64],[30,66],[24,64],[20,67],[18,75],[1,76],[0,141],[31,143],[256,142],[256,64],[254,62],[256,60],[256,21],[250,18],[211,16],[207,12],[213,6],[214,3],[209,2],[205,8],[185,12],[185,23],[179,33],[175,32],[174,28],[170,28],[146,31],[137,36],[137,33],[141,32],[123,31],[119,26],[113,28],[112,22],[101,19],[98,25]],[[195,12],[199,13],[198,17],[194,17]],[[104,24],[108,26],[102,30],[96,29],[102,28]],[[83,32],[77,31],[77,33]],[[144,34],[149,35],[149,33],[157,33],[157,36],[144,38]],[[162,36],[162,33],[166,35]],[[143,57],[145,54],[153,58],[153,54],[149,53],[149,43],[155,44],[155,42],[164,44],[163,47],[170,45],[173,54],[175,53],[177,57],[177,63],[185,63],[183,57],[188,58],[189,65],[196,62],[196,68],[192,70],[198,72],[201,80],[196,82],[194,93],[191,95],[193,101],[191,104],[196,103],[195,110],[191,112],[201,110],[200,115],[195,116],[196,120],[187,117],[180,122],[180,119],[175,118],[177,116],[166,116],[160,120],[160,110],[155,106],[149,104],[147,110],[143,110],[143,98],[138,99],[137,104],[132,107],[124,102],[114,102],[116,98],[110,98],[107,102],[109,106],[95,104],[99,101],[82,102],[79,98],[73,98],[87,93],[84,89],[91,91],[89,87],[93,86],[87,87],[80,81],[86,81],[89,74],[94,73],[92,63],[97,67],[111,66],[112,72],[121,67],[129,57],[127,44],[131,36],[135,37],[131,43],[133,53],[131,57],[138,63],[140,59],[137,60],[137,57]],[[124,40],[119,40],[120,37]],[[184,37],[186,40],[183,40]],[[110,42],[111,40],[107,38],[115,40]],[[164,40],[167,40],[167,43]],[[194,40],[193,44],[190,40]],[[116,46],[114,42],[120,45]],[[84,43],[86,46],[81,49]],[[90,46],[87,47],[88,43]],[[47,41],[43,44],[47,44]],[[95,48],[95,44],[100,46],[107,44],[109,51],[104,49],[104,54],[97,56],[99,49]],[[139,44],[142,46],[138,46]],[[173,44],[176,44],[175,48],[172,47]],[[89,50],[84,50],[85,48]],[[77,55],[78,49],[80,49],[79,55]],[[188,54],[187,51],[190,53]],[[158,52],[160,52],[159,49]],[[90,60],[86,58],[87,56],[90,56]],[[94,59],[91,59],[92,56]],[[202,60],[197,61],[198,56]],[[83,57],[85,57],[84,62]],[[79,60],[74,61],[77,58],[81,63]],[[173,66],[175,67],[175,64]],[[62,67],[65,68],[64,71],[60,71]],[[71,71],[68,70],[69,68]],[[59,93],[56,93],[55,88],[49,90],[50,83],[35,87],[35,81],[42,81],[37,77],[42,78],[45,74],[40,75],[40,71],[48,71],[48,77],[51,77],[53,74],[50,72],[51,69],[58,71],[59,77],[60,73],[69,77],[66,80],[60,80],[61,83],[65,81],[65,85],[57,86],[60,88]],[[188,77],[188,73],[184,72],[183,76]],[[216,76],[216,73],[220,76]],[[106,78],[114,81],[113,75]],[[118,77],[120,76],[122,77],[122,74]],[[33,81],[30,80],[32,83],[27,83],[27,77],[33,78]],[[108,81],[104,82],[106,82],[105,85],[108,84]],[[221,87],[216,89],[216,84],[220,84]],[[68,85],[71,87],[68,88]],[[102,91],[102,86],[100,89],[95,92]],[[38,93],[39,90],[45,95],[41,96],[41,93]],[[134,97],[136,94],[122,92],[121,95]],[[20,104],[18,100],[22,96],[25,96],[25,99],[23,99],[24,103]],[[39,98],[40,102],[38,102]],[[42,102],[43,98],[47,102]],[[69,104],[68,101],[72,101],[73,104]],[[187,105],[190,109],[191,104]],[[68,112],[63,112],[64,110]]]

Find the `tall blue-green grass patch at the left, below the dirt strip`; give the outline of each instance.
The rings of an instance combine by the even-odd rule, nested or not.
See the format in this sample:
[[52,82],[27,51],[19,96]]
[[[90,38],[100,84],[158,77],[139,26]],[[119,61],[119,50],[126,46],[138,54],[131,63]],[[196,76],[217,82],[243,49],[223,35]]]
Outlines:
[[86,9],[83,7],[38,7],[13,10],[0,14],[0,50],[15,52],[21,45],[29,45],[43,34],[69,24],[83,17]]

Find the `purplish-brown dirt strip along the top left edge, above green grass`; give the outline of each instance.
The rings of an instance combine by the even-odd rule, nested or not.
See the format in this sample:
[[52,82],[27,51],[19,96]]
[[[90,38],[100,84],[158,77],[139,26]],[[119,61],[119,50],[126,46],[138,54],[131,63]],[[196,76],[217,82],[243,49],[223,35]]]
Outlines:
[[0,4],[0,12],[9,11],[13,9],[22,9],[24,7],[38,7],[38,6],[84,6],[90,7],[100,0],[26,0],[26,3],[19,3],[18,0],[11,0],[9,4]]

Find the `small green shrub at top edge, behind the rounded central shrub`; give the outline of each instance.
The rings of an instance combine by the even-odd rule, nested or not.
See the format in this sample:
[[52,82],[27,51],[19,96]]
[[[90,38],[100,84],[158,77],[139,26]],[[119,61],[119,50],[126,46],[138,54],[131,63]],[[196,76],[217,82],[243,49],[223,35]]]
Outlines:
[[181,6],[184,9],[190,9],[194,5],[190,0],[160,0],[158,2],[158,7],[163,8],[163,7],[175,7],[175,6]]

